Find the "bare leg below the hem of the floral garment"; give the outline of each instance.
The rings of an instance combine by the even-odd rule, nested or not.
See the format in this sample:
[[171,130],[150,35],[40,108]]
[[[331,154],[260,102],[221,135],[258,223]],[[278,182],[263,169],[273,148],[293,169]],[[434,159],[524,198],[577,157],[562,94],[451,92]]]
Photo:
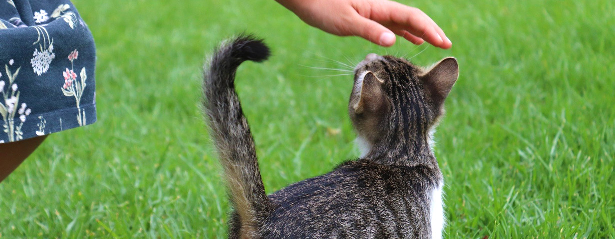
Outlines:
[[22,164],[45,138],[47,135],[0,144],[0,182]]

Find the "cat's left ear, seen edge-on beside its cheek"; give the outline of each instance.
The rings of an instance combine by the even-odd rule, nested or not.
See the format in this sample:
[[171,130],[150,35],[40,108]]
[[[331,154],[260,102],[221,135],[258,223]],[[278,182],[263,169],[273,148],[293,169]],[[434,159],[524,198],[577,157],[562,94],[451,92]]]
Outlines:
[[363,112],[376,112],[386,105],[386,97],[383,91],[384,81],[378,79],[373,72],[367,72],[363,78],[360,89],[359,101],[354,104],[355,114]]

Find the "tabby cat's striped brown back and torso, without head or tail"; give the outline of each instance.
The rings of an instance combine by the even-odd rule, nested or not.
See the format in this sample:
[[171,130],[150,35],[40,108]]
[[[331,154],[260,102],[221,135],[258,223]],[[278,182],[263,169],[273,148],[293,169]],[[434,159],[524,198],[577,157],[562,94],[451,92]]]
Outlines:
[[269,195],[264,238],[425,238],[437,168],[349,161]]

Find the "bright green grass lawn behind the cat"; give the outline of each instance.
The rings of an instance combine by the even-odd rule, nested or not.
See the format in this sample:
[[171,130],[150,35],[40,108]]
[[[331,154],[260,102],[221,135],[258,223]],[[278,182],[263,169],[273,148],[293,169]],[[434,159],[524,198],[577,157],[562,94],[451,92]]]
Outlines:
[[242,31],[274,52],[238,76],[268,192],[358,155],[351,77],[311,67],[452,55],[461,77],[436,135],[445,237],[615,238],[613,1],[412,2],[448,51],[331,36],[274,1],[74,3],[97,41],[98,122],[50,136],[0,184],[0,238],[223,238],[200,73]]

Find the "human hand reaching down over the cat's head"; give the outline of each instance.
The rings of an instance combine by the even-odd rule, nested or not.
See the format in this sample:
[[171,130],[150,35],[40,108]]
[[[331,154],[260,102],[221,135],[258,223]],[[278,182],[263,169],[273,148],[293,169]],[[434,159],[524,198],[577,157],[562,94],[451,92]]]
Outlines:
[[337,36],[360,36],[390,47],[395,34],[413,44],[442,49],[453,43],[427,14],[388,0],[276,0],[303,22]]

